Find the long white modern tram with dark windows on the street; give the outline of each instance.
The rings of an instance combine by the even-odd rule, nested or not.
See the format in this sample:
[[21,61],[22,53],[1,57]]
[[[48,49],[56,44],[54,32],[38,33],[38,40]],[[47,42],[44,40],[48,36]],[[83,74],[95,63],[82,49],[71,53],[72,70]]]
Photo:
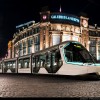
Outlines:
[[36,53],[5,59],[0,62],[0,70],[2,73],[100,75],[100,63],[81,43],[66,41]]

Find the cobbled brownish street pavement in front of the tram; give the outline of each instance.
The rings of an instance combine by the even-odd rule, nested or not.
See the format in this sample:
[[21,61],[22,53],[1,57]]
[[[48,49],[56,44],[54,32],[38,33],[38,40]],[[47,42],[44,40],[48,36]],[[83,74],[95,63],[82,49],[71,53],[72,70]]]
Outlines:
[[100,97],[95,76],[0,74],[0,97]]

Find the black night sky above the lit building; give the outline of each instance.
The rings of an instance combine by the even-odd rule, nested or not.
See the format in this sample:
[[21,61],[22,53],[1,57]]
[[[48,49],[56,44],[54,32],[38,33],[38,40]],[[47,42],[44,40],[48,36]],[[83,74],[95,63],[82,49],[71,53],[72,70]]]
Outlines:
[[6,54],[17,25],[31,20],[38,22],[42,7],[58,12],[60,5],[62,12],[77,16],[85,13],[89,24],[100,26],[100,0],[0,0],[0,57]]

